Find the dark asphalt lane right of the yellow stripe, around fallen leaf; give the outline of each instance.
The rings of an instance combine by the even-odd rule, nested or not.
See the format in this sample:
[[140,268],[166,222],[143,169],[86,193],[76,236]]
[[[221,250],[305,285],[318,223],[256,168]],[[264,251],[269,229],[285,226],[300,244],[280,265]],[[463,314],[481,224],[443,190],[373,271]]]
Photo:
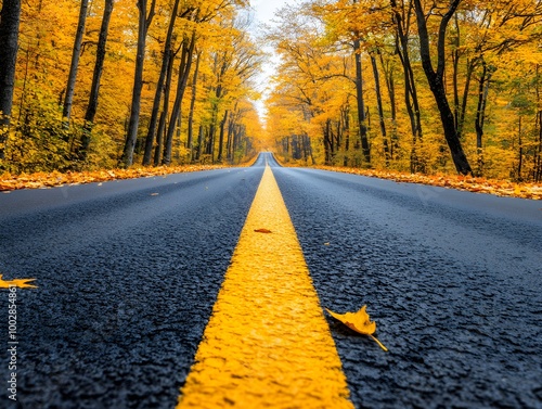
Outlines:
[[273,170],[358,407],[542,408],[540,202]]

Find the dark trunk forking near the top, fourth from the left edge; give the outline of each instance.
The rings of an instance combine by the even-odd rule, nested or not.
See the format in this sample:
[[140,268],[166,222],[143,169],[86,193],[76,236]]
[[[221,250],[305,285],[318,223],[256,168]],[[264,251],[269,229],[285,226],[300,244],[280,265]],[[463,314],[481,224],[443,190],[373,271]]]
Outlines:
[[126,136],[125,149],[120,165],[128,167],[133,163],[133,149],[138,139],[139,117],[141,111],[141,91],[143,89],[143,65],[145,62],[146,34],[154,17],[156,0],[152,0],[149,16],[146,15],[147,0],[138,0],[139,26],[138,26],[138,51],[136,55],[136,73],[133,75],[133,91],[130,107],[130,119]]

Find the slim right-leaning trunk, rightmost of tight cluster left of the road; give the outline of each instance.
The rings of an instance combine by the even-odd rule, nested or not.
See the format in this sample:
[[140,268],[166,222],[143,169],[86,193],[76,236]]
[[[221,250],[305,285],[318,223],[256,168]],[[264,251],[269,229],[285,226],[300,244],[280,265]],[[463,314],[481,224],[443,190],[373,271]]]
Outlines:
[[196,33],[193,31],[191,38],[185,38],[184,44],[181,52],[181,63],[179,65],[179,82],[177,85],[177,95],[173,103],[173,108],[171,111],[171,117],[169,120],[168,131],[166,135],[166,143],[164,146],[164,157],[162,163],[164,165],[171,164],[171,151],[173,145],[173,133],[177,126],[177,120],[181,114],[181,103],[184,95],[184,90],[186,89],[186,84],[189,80],[190,69],[192,67],[192,60],[194,55],[194,47],[196,43]]

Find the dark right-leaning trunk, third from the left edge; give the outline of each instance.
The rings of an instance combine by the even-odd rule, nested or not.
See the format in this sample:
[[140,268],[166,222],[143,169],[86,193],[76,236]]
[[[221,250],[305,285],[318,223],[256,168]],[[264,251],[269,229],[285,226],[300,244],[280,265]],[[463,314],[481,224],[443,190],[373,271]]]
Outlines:
[[87,151],[90,144],[90,137],[94,117],[98,111],[98,100],[100,94],[100,80],[103,73],[103,64],[105,61],[105,47],[107,44],[107,35],[109,31],[111,15],[113,13],[113,5],[115,0],[105,0],[102,26],[100,27],[100,37],[98,39],[96,61],[94,64],[94,74],[92,75],[92,85],[90,87],[89,104],[87,113],[85,114],[85,128],[81,136],[81,146],[79,148],[79,159],[87,158]]

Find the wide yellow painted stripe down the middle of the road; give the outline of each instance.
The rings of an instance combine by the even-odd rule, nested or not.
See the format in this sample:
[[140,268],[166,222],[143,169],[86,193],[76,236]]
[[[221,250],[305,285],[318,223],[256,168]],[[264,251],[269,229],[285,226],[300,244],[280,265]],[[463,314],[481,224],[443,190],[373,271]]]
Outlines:
[[177,408],[353,408],[269,166],[195,361]]

